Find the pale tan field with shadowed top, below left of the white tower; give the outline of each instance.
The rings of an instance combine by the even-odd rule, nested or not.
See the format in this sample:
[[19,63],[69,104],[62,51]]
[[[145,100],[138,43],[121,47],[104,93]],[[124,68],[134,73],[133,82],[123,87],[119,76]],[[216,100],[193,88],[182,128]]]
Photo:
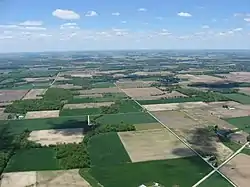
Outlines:
[[28,140],[40,143],[43,146],[80,143],[83,140],[83,128],[32,131]]

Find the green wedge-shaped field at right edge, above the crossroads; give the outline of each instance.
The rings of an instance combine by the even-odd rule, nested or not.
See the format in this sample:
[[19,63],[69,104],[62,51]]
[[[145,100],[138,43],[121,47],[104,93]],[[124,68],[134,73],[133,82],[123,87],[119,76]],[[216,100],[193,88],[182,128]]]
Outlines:
[[240,130],[250,133],[250,116],[224,119]]

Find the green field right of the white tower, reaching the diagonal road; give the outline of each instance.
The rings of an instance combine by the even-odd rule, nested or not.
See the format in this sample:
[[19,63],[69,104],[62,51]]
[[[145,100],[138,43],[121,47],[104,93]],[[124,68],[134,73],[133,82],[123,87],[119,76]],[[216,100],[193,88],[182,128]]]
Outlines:
[[97,122],[101,124],[119,124],[126,123],[129,125],[139,124],[139,123],[155,123],[156,120],[146,112],[135,112],[126,114],[109,114],[109,115],[99,115],[91,116],[91,118],[97,118]]

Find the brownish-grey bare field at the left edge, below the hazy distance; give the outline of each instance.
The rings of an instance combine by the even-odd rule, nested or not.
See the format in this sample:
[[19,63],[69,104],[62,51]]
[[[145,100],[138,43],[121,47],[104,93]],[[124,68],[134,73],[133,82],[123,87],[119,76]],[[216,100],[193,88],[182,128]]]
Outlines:
[[0,90],[0,102],[22,99],[29,90]]

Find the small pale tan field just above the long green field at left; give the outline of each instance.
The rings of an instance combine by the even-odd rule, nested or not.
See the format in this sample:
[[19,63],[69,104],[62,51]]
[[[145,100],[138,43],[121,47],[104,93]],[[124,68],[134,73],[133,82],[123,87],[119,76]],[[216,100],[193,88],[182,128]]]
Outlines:
[[59,117],[60,110],[45,110],[27,112],[25,119],[56,118]]

